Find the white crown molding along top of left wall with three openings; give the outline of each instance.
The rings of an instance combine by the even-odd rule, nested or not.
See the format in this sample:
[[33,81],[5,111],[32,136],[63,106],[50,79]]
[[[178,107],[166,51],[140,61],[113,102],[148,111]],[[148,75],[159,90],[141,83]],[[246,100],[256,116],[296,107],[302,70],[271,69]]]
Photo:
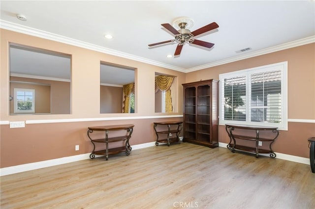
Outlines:
[[44,38],[44,39],[48,39],[48,40],[52,40],[52,41],[57,41],[57,42],[61,42],[64,44],[69,44],[72,46],[76,46],[76,47],[81,47],[81,48],[85,48],[88,50],[93,50],[96,52],[102,52],[102,53],[107,53],[107,54],[111,54],[111,55],[115,55],[115,56],[119,56],[119,57],[123,57],[123,58],[127,58],[127,59],[131,59],[131,60],[135,60],[135,61],[139,61],[139,62],[143,62],[143,63],[148,63],[151,65],[156,65],[159,67],[164,67],[167,69],[171,69],[171,70],[176,70],[176,71],[180,71],[185,73],[186,70],[183,68],[179,68],[173,65],[167,65],[161,62],[157,62],[151,59],[147,59],[144,57],[140,57],[140,56],[135,56],[132,54],[128,54],[125,52],[119,52],[116,50],[112,50],[112,49],[108,49],[105,47],[100,47],[91,43],[87,43],[87,42],[83,42],[83,41],[79,41],[76,39],[72,39],[69,37],[65,37],[62,35],[58,35],[55,33],[51,33],[51,32],[47,32],[44,30],[39,30],[36,28],[32,28],[32,27],[28,27],[28,26],[22,26],[19,24],[15,24],[9,21],[5,21],[5,20],[1,20],[0,19],[0,27],[3,29],[7,29],[7,30],[12,30],[15,32],[19,32],[19,33],[24,33],[24,34],[28,34],[28,35],[32,35],[32,36],[36,36],[39,38]]

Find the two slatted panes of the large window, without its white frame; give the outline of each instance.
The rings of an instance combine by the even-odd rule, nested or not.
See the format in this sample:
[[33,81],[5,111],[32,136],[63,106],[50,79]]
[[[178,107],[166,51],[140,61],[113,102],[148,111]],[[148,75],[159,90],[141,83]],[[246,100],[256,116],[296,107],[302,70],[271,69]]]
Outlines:
[[246,101],[246,76],[224,79],[224,120],[246,121],[248,106],[252,122],[281,122],[281,71],[251,75]]

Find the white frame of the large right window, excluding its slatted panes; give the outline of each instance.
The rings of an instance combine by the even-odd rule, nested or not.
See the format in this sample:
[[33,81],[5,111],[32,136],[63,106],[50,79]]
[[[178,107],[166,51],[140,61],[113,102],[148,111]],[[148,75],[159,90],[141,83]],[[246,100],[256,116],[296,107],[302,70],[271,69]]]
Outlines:
[[[251,121],[251,74],[263,73],[269,71],[281,71],[281,123],[269,122],[252,122]],[[246,121],[224,120],[224,79],[234,78],[239,76],[246,76]],[[287,131],[287,61],[234,71],[231,73],[224,73],[219,75],[220,90],[219,90],[219,124],[238,124],[238,125],[252,125],[252,126],[269,126],[278,127],[279,130]]]

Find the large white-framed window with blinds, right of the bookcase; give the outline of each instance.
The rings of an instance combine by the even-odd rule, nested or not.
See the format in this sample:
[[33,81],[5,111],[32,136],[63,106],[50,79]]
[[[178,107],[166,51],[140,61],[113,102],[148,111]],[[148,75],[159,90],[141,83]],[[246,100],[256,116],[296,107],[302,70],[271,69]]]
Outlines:
[[287,130],[287,62],[219,75],[220,125]]

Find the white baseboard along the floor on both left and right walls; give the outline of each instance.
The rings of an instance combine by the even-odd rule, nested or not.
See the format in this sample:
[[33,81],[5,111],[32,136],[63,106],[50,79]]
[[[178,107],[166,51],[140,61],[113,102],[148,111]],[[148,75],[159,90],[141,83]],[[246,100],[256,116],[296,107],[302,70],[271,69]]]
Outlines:
[[[227,145],[226,143],[219,142],[219,147],[226,148],[226,145]],[[143,148],[153,147],[153,146],[156,146],[155,141],[144,143],[144,144],[132,145],[132,150],[138,150],[138,149],[143,149]],[[277,155],[276,158],[279,158],[279,159],[299,162],[299,163],[308,164],[308,165],[310,164],[310,159],[306,157],[291,156],[291,155],[286,155],[282,153],[276,153],[276,155]],[[81,155],[76,155],[76,156],[61,157],[57,159],[50,159],[50,160],[45,160],[45,161],[40,161],[40,162],[32,162],[32,163],[27,163],[27,164],[22,164],[22,165],[5,167],[5,168],[0,169],[0,176],[21,173],[24,171],[50,167],[54,165],[61,165],[61,164],[75,162],[75,161],[89,159],[89,158],[90,158],[90,153],[86,153],[86,154],[81,154]]]

